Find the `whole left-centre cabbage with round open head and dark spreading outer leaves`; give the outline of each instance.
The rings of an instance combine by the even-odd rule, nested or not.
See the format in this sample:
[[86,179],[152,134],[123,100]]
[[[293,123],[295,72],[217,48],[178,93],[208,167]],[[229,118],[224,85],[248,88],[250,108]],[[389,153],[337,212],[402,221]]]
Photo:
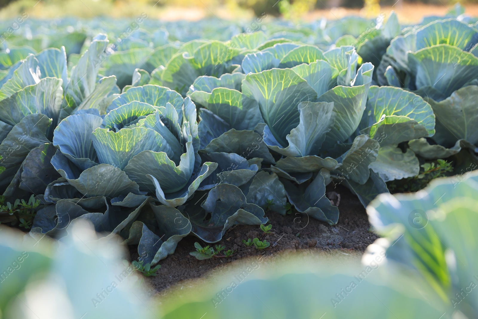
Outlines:
[[[38,212],[44,219],[36,220],[34,232],[61,236],[70,220],[89,219],[97,231],[121,234],[125,243],[138,244],[146,261],[157,263],[190,231],[217,242],[234,224],[267,221],[264,211],[230,184],[210,190],[204,203],[201,194],[190,201],[196,204],[182,208],[217,168],[197,153],[196,106],[190,98],[145,85],[128,89],[107,110],[104,116],[97,109],[77,110],[55,129],[58,150],[51,163],[62,177],[47,187],[45,200],[55,208]],[[212,217],[205,222],[207,213]],[[204,230],[208,227],[219,233],[210,237],[214,231]]]

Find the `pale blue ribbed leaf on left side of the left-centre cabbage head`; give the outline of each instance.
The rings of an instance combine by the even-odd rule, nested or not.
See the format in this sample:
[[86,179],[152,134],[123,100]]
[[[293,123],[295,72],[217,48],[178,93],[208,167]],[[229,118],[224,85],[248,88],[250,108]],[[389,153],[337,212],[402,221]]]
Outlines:
[[103,119],[93,114],[71,115],[54,130],[53,145],[81,169],[96,165],[93,131]]

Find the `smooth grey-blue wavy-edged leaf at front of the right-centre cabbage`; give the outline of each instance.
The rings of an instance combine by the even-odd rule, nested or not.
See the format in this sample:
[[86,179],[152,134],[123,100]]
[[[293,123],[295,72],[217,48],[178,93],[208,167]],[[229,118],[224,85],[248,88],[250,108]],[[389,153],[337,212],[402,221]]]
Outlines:
[[317,155],[335,122],[334,103],[301,102],[298,105],[300,122],[286,136],[287,147],[280,145],[273,137],[269,127],[264,128],[264,142],[273,151],[284,156]]

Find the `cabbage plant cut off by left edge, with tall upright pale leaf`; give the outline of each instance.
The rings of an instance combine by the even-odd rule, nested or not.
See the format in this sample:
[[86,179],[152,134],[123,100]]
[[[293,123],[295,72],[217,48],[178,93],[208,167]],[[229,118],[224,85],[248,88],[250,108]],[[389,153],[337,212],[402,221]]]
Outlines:
[[1,79],[0,191],[7,200],[44,194],[59,177],[49,163],[56,125],[73,110],[100,107],[118,89],[115,77],[98,79],[107,43],[105,35],[95,37],[70,74],[62,47],[29,54]]

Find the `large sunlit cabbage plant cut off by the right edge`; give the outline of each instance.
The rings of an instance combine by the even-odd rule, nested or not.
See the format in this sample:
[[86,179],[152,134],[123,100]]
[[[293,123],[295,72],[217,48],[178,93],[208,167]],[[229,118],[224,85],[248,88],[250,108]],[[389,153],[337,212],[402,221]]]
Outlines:
[[462,148],[473,150],[478,143],[471,124],[475,113],[472,97],[478,89],[477,42],[474,26],[450,18],[396,37],[382,59],[380,85],[412,90],[433,108],[436,134],[432,140],[410,143],[425,159],[451,156]]

